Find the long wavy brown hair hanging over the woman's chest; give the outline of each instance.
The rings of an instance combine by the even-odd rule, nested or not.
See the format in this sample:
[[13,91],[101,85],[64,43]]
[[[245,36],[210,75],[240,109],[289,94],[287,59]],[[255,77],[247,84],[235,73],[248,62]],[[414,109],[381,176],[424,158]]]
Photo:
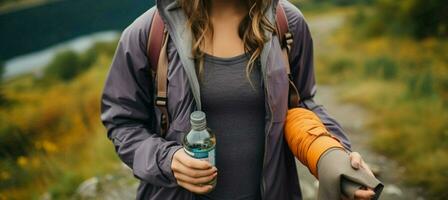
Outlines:
[[[199,77],[204,70],[204,48],[206,36],[213,38],[213,25],[210,20],[210,7],[213,0],[178,0],[187,16],[187,27],[193,35],[192,56],[195,60],[196,71]],[[238,35],[244,42],[244,51],[250,55],[246,66],[246,77],[250,81],[250,73],[260,57],[264,43],[269,40],[265,32],[274,32],[272,25],[265,13],[268,11],[272,0],[244,0],[248,12],[238,26]],[[252,83],[251,83],[252,84]]]

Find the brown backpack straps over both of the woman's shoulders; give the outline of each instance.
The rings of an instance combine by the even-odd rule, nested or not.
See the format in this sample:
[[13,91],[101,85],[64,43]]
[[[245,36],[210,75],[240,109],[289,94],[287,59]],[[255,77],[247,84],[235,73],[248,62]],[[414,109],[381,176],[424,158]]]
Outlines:
[[[169,34],[157,9],[154,12],[151,27],[149,30],[150,31],[148,35],[146,51],[149,65],[151,66],[152,76],[156,79],[155,105],[162,114],[160,119],[160,130],[161,135],[164,136],[169,128],[169,115],[167,110],[168,58],[166,54],[166,44]],[[276,8],[276,34],[278,35],[278,39],[282,48],[283,59],[286,63],[286,71],[289,79],[288,107],[297,107],[299,105],[300,96],[297,88],[292,81],[293,77],[291,76],[288,56],[293,42],[293,35],[291,32],[289,32],[288,20],[286,18],[285,10],[280,4],[278,4]]]

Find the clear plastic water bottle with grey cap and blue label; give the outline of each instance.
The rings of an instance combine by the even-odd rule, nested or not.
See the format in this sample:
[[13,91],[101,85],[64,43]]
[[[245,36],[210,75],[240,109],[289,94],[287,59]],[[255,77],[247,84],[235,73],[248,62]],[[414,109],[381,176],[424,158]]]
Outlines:
[[[205,160],[215,166],[215,145],[216,138],[207,128],[205,113],[202,111],[194,111],[190,115],[191,130],[188,132],[183,140],[183,147],[185,153],[193,158]],[[216,178],[214,178],[209,185],[216,185]]]

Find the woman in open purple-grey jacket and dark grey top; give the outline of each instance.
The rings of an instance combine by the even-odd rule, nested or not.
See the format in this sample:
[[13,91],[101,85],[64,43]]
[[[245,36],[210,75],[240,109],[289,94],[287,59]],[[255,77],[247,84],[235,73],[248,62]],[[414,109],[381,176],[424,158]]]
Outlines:
[[[315,112],[350,150],[340,125],[313,101],[312,40],[291,3],[157,0],[156,8],[123,32],[101,101],[108,137],[141,181],[137,199],[301,199],[295,160],[283,139],[288,79],[272,33],[277,4],[283,6],[294,35],[290,64],[301,107]],[[157,134],[159,112],[145,51],[155,9],[170,34],[171,123],[163,138]],[[200,89],[190,87],[198,82]],[[180,150],[189,115],[199,107],[216,133],[216,167]],[[359,154],[351,158],[354,167],[367,168]],[[212,188],[206,183],[215,177]],[[371,190],[356,192],[357,199],[372,195]]]

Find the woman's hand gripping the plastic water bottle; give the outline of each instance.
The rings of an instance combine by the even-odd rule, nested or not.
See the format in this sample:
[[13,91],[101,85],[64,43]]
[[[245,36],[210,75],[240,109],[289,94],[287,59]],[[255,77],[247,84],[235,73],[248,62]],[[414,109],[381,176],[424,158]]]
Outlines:
[[207,183],[218,175],[216,167],[207,161],[190,157],[183,148],[174,153],[171,169],[178,185],[197,194],[210,192],[213,186]]

